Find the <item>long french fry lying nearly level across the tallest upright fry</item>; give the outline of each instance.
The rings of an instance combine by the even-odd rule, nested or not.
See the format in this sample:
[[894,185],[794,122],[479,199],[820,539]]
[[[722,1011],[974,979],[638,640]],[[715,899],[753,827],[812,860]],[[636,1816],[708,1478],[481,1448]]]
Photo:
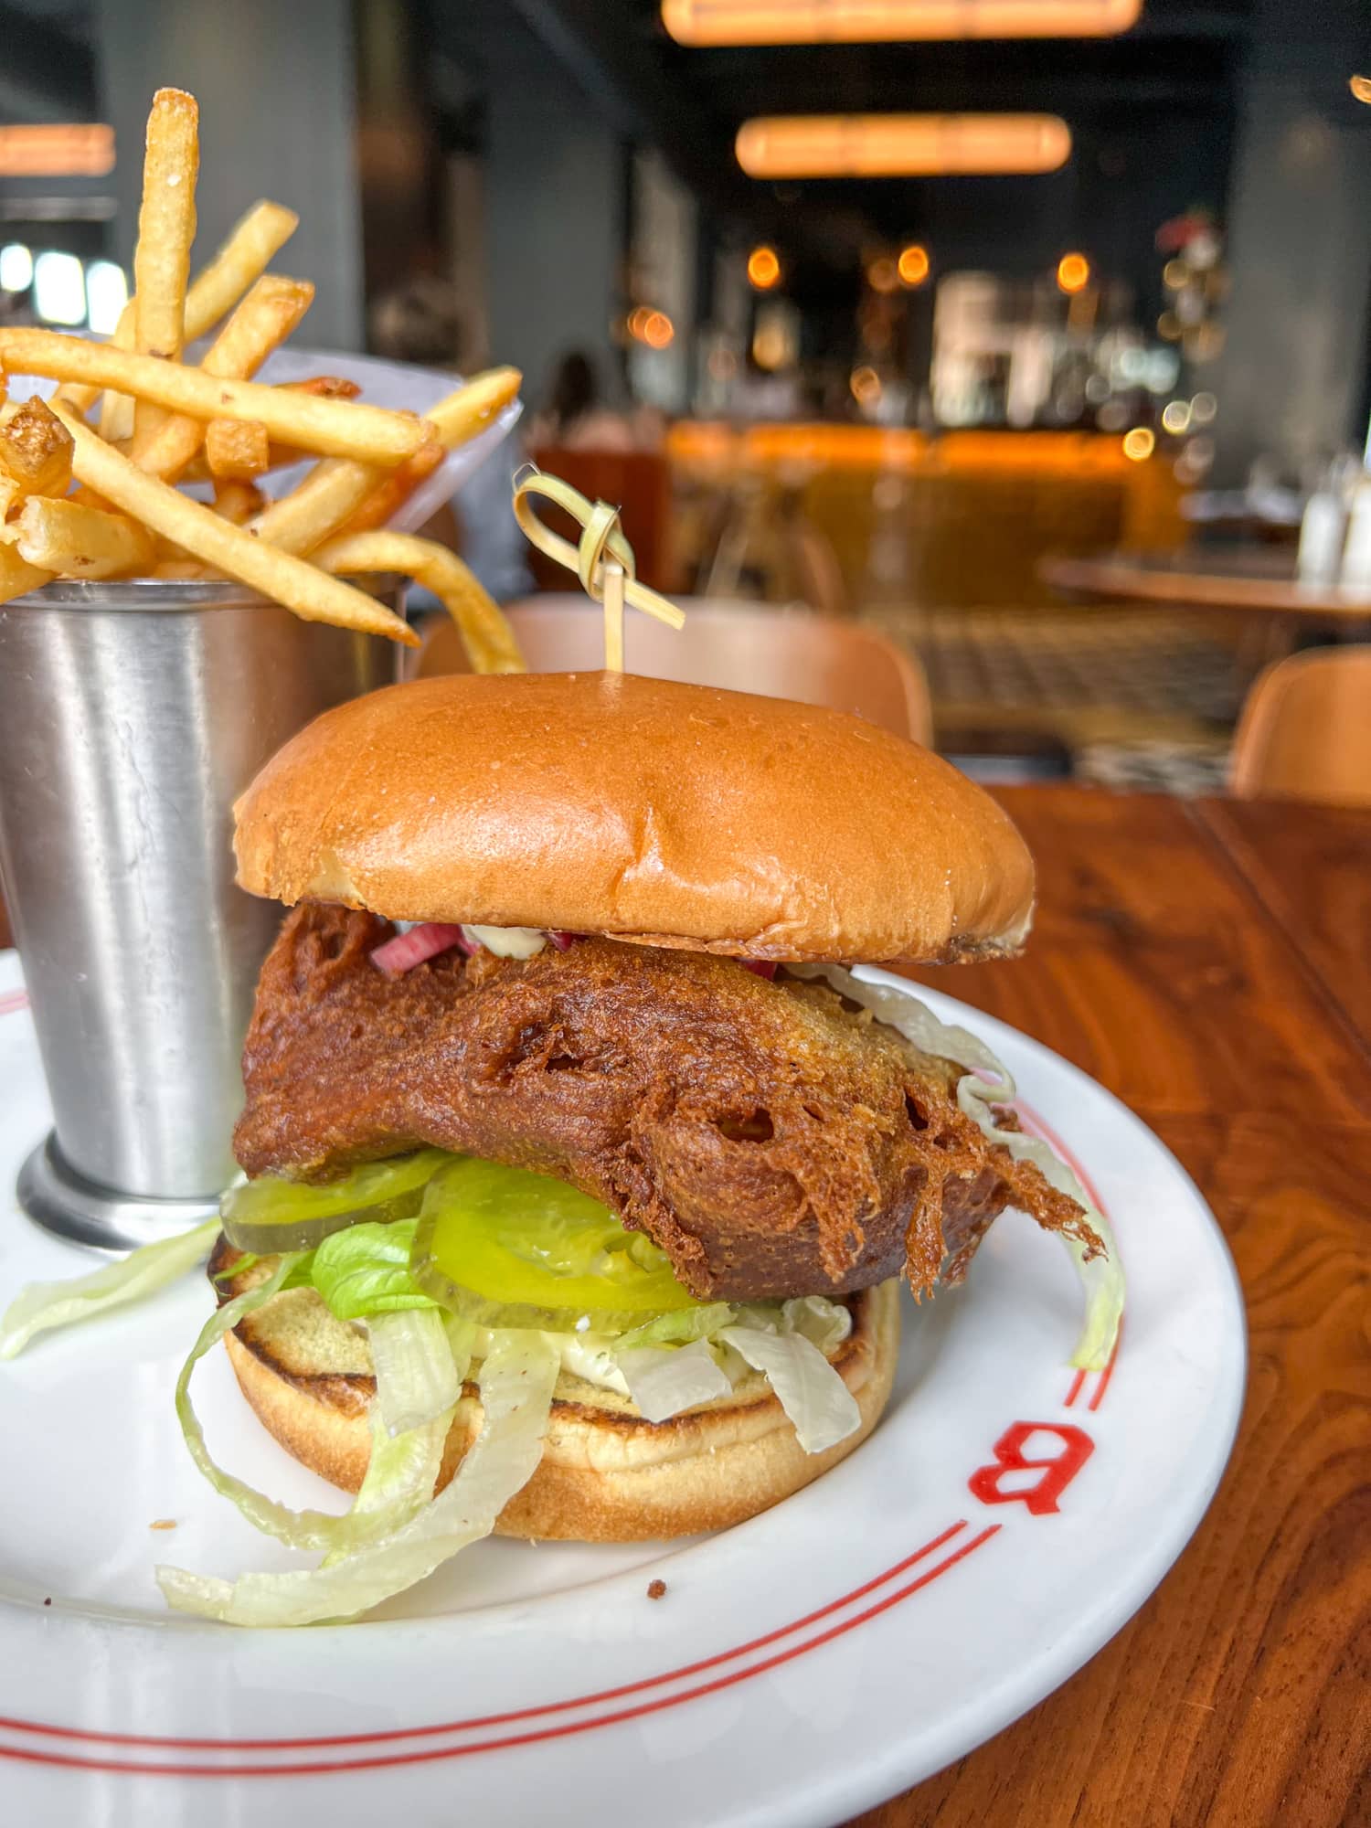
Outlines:
[[260,380],[219,380],[197,367],[128,355],[60,331],[0,331],[0,367],[49,380],[93,380],[194,419],[260,419],[283,444],[382,470],[413,457],[428,435],[426,422],[413,413],[360,400],[324,400]]

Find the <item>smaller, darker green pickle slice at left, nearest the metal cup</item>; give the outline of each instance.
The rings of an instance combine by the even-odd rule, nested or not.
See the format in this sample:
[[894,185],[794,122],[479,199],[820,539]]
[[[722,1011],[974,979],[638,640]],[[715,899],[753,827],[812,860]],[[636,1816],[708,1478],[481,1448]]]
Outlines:
[[219,1201],[223,1234],[238,1250],[271,1256],[313,1250],[349,1225],[411,1219],[439,1168],[455,1161],[442,1148],[369,1161],[338,1181],[309,1186],[280,1174],[230,1186]]

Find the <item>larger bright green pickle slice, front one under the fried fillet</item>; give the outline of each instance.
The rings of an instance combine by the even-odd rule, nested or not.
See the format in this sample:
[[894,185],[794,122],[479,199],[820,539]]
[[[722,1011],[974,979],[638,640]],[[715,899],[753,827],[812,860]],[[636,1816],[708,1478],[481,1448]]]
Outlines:
[[589,1194],[473,1155],[430,1181],[409,1267],[424,1294],[483,1327],[627,1333],[706,1305]]

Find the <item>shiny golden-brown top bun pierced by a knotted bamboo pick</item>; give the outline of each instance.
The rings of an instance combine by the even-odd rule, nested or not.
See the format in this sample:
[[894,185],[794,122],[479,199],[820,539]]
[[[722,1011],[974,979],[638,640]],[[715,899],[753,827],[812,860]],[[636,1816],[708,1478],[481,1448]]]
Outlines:
[[1016,952],[1033,916],[1022,837],[940,757],[843,711],[634,675],[353,698],[236,815],[243,888],[391,919],[936,963]]

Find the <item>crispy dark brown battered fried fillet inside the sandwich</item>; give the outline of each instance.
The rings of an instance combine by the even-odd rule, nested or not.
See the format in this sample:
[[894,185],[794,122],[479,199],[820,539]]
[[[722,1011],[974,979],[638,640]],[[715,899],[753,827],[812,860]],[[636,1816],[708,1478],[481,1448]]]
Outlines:
[[1080,1206],[956,1106],[960,1068],[824,985],[585,940],[457,952],[399,980],[373,914],[302,903],[267,958],[234,1152],[320,1179],[419,1144],[550,1174],[611,1206],[696,1296],[960,1280],[1016,1205],[1099,1243]]

